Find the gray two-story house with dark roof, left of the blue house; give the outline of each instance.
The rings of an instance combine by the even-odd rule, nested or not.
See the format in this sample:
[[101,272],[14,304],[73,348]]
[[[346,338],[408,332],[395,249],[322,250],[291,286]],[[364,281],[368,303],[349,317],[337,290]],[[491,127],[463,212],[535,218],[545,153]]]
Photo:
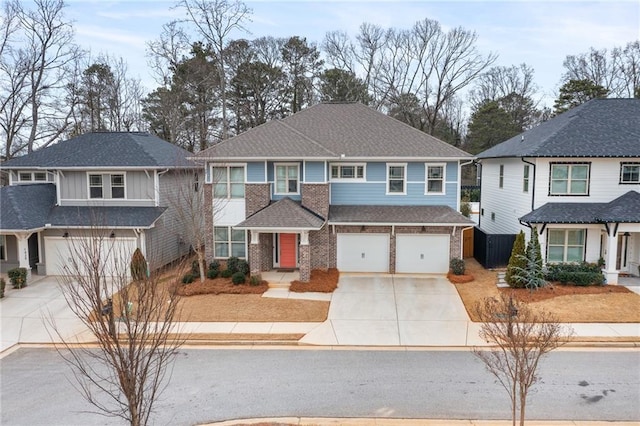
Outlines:
[[108,236],[103,252],[114,249],[109,268],[136,248],[151,267],[188,253],[168,199],[195,174],[188,155],[148,133],[96,132],[2,163],[9,186],[0,188],[0,270],[60,275],[98,229]]

